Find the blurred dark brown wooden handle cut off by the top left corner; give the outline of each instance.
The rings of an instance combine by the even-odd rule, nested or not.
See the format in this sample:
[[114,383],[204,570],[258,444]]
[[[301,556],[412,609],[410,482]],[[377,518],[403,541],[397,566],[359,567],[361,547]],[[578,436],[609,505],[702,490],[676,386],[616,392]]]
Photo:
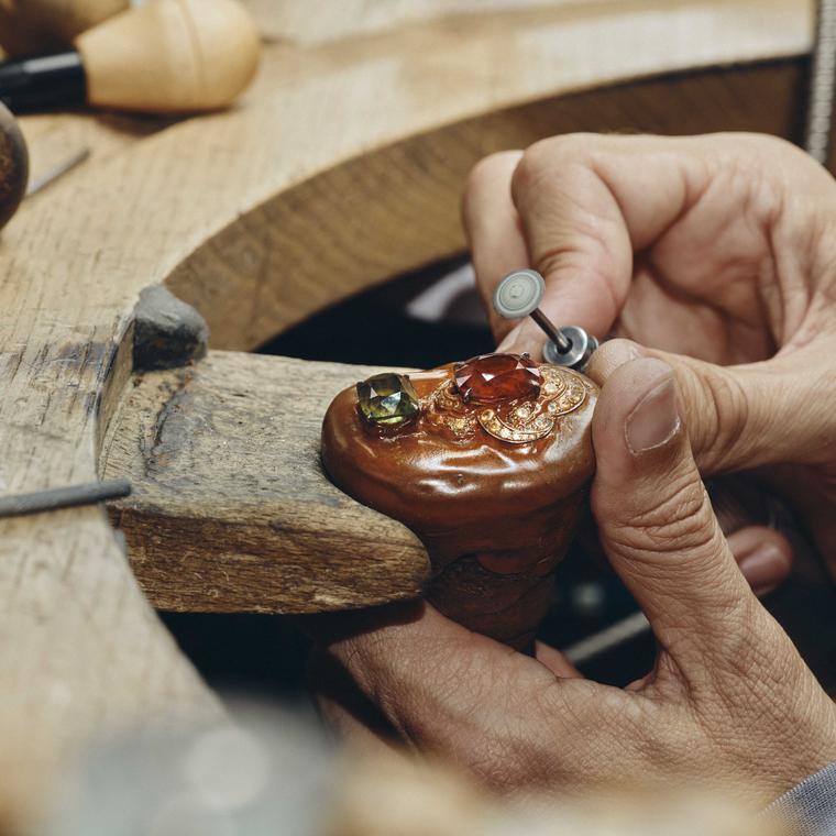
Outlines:
[[9,55],[38,55],[124,11],[130,0],[0,0],[0,46]]

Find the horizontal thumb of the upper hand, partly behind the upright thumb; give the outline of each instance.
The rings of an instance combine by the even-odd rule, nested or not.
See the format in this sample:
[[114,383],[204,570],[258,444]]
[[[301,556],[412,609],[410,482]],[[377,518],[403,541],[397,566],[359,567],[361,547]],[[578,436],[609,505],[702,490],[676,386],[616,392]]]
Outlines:
[[[718,366],[681,354],[610,340],[592,356],[587,374],[598,385],[637,356],[658,358],[675,372],[689,438],[705,475],[767,464],[816,464],[836,451],[836,391],[822,386],[827,371],[818,345],[762,363]],[[832,458],[832,457],[831,457]]]

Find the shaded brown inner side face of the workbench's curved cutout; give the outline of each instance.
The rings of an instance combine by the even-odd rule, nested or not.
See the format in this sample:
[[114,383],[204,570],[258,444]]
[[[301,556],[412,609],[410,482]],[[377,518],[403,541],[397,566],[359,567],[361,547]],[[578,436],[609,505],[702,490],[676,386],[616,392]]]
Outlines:
[[336,298],[461,252],[460,196],[486,154],[616,125],[790,135],[802,90],[796,65],[768,64],[590,90],[417,133],[292,183],[195,250],[168,286],[206,317],[215,345],[252,349]]

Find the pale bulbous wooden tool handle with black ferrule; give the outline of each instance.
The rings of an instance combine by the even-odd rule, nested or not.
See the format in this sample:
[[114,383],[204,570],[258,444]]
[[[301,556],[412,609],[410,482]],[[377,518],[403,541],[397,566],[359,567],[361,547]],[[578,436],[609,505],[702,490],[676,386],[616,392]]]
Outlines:
[[237,0],[148,0],[82,33],[75,50],[0,65],[14,111],[73,107],[150,113],[223,108],[250,84],[261,54]]

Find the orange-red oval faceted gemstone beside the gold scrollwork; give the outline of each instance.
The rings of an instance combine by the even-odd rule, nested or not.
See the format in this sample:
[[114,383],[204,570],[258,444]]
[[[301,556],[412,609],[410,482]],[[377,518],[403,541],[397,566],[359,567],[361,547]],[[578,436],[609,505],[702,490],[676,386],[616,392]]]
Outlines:
[[519,354],[483,354],[462,363],[454,375],[462,399],[483,404],[536,398],[542,382],[537,364]]

